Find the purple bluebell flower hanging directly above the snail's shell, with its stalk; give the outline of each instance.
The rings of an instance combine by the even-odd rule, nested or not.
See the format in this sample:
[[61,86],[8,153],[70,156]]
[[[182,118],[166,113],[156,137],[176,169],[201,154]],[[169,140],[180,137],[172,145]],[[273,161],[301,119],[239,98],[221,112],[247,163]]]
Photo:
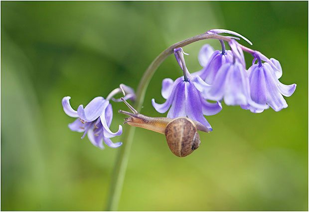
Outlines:
[[207,89],[209,85],[199,76],[190,75],[184,62],[182,48],[174,49],[174,54],[184,76],[175,81],[164,79],[161,94],[166,101],[163,104],[157,104],[152,99],[152,104],[159,113],[165,113],[169,109],[168,118],[188,117],[200,122],[211,131],[212,128],[203,114],[217,114],[221,111],[222,106],[219,102],[209,103],[204,99],[202,91]]

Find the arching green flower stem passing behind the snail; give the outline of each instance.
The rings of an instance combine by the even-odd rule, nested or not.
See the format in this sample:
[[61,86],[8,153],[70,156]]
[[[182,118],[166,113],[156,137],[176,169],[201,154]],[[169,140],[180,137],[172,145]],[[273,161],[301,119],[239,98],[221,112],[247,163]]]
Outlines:
[[[154,75],[154,72],[159,67],[159,65],[170,55],[174,52],[174,48],[183,47],[198,40],[204,39],[219,39],[230,41],[231,38],[224,37],[218,34],[199,34],[194,37],[190,37],[188,39],[182,40],[178,43],[175,43],[168,48],[166,48],[163,52],[161,52],[154,61],[150,64],[147,70],[144,72],[144,75],[140,81],[136,92],[136,101],[134,104],[135,109],[137,111],[141,111],[142,105],[145,99],[145,93],[148,87],[148,84],[151,78]],[[124,129],[123,135],[123,146],[119,150],[118,158],[115,164],[112,181],[111,181],[111,188],[108,194],[108,202],[107,202],[107,211],[117,211],[118,203],[121,197],[121,192],[123,188],[123,183],[125,179],[126,169],[128,165],[128,159],[130,154],[130,149],[133,142],[133,137],[135,133],[135,127],[130,127],[127,125]]]

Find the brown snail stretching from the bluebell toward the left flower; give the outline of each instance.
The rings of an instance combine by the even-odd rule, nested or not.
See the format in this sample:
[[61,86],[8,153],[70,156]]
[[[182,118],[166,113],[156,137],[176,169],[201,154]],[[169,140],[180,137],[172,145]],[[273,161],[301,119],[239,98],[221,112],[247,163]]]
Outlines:
[[201,141],[197,130],[209,132],[209,129],[204,125],[187,117],[171,119],[145,116],[138,113],[124,98],[121,98],[121,100],[133,112],[118,111],[130,116],[125,118],[124,124],[128,123],[134,127],[141,127],[165,135],[169,149],[178,157],[185,157],[199,147]]

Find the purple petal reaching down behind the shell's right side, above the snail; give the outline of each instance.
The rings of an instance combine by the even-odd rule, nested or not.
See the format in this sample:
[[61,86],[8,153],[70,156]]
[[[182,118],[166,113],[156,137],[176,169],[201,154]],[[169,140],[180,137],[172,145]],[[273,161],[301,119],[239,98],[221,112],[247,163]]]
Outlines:
[[185,83],[185,100],[185,110],[188,118],[200,122],[209,131],[212,131],[210,124],[203,116],[199,92],[190,82]]

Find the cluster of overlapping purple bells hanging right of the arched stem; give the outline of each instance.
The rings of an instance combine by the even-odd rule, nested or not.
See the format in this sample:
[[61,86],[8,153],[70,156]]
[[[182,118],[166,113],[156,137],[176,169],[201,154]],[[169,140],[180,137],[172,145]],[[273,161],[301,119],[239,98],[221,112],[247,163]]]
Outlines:
[[[244,38],[242,35],[223,29],[209,30],[209,34],[229,33]],[[267,58],[262,53],[240,45],[228,36],[230,50],[225,49],[223,40],[219,40],[222,50],[214,50],[210,45],[204,45],[198,56],[202,70],[190,74],[185,65],[182,48],[174,49],[176,60],[183,71],[183,77],[164,79],[162,81],[162,97],[165,103],[153,106],[159,113],[175,118],[186,116],[202,123],[210,131],[210,124],[204,115],[214,115],[221,111],[221,103],[239,105],[253,113],[261,113],[269,107],[280,111],[288,107],[284,96],[291,96],[296,84],[284,85],[279,81],[282,76],[280,62]],[[243,50],[254,57],[252,66],[246,69]],[[257,63],[255,64],[255,62]],[[217,103],[210,103],[213,100]]]

